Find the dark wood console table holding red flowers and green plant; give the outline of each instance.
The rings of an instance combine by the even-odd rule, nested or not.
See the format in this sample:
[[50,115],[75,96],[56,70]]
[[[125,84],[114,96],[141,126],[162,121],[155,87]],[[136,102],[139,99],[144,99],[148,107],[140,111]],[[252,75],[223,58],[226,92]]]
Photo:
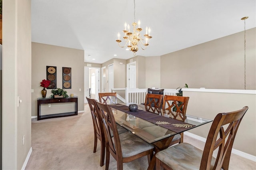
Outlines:
[[[77,101],[78,97],[67,97],[67,98],[38,98],[37,99],[37,120],[42,119],[50,119],[55,117],[66,117],[66,116],[73,116],[77,115]],[[67,102],[74,102],[75,103],[75,111],[74,112],[67,112],[67,113],[56,113],[51,115],[41,115],[41,105],[42,104],[50,104],[50,103],[67,103]]]

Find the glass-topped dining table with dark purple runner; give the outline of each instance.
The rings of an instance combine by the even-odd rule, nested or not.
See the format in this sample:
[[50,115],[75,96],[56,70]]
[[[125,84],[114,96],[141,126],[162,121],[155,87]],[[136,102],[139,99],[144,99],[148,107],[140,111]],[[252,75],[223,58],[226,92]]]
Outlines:
[[[184,132],[184,131],[190,130],[192,128],[196,128],[196,127],[199,127],[206,123],[212,122],[212,120],[210,120],[210,119],[204,119],[201,117],[186,115],[185,122],[172,119],[176,122],[175,123],[166,123],[169,120],[171,120],[171,118],[169,117],[169,115],[164,114],[164,112],[161,109],[161,113],[159,114],[159,115],[161,115],[161,117],[160,117],[161,121],[154,123],[154,121],[148,121],[147,119],[145,120],[145,117],[134,116],[134,114],[132,112],[127,111],[127,109],[118,109],[118,107],[116,107],[118,105],[119,106],[121,106],[121,105],[129,106],[129,104],[134,104],[134,103],[122,103],[122,104],[110,105],[116,123],[118,125],[126,128],[127,130],[129,130],[130,132],[132,132],[133,134],[142,138],[143,140],[145,140],[146,142],[148,142],[150,144],[160,141],[164,138],[174,136],[175,134],[178,134],[180,132]],[[124,108],[124,107],[122,107],[122,108]],[[144,113],[146,113],[145,110],[146,109],[145,109],[144,105],[138,104],[138,111],[140,111],[140,113],[142,113],[143,111],[144,111]],[[129,113],[132,113],[133,115],[129,114]],[[134,113],[136,113],[136,112],[134,112]],[[156,113],[151,113],[151,112],[147,112],[146,114],[148,114],[146,116],[146,118],[158,115]],[[154,115],[151,115],[151,114],[154,114]],[[162,119],[164,121],[162,121]],[[166,128],[164,124],[173,125],[173,126],[175,126],[174,127],[175,129],[170,130],[172,128]],[[186,128],[186,126],[188,126],[188,128]]]

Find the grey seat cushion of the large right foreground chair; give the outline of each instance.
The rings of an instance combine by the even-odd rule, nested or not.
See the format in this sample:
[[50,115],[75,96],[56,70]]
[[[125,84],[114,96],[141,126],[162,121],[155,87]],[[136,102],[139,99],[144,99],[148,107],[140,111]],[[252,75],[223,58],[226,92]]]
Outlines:
[[[156,158],[170,166],[173,170],[199,170],[203,151],[188,143],[171,146],[156,154]],[[213,169],[215,158],[212,157]]]

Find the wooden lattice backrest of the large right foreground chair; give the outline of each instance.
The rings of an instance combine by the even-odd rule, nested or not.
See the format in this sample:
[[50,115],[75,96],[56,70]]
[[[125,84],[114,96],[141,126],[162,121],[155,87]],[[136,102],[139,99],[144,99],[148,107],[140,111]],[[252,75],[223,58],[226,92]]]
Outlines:
[[217,148],[218,154],[213,169],[228,169],[236,132],[247,110],[246,106],[238,111],[216,115],[206,139],[200,169],[210,169],[212,154]]

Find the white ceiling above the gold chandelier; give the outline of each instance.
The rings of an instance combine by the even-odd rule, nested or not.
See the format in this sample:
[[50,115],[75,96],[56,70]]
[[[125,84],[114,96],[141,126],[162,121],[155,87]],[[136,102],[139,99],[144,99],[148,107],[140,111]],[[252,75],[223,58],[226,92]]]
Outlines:
[[[244,16],[249,16],[246,30],[256,27],[256,0],[136,0],[135,5],[135,21],[144,30],[150,27],[153,37],[136,55],[160,56],[241,32]],[[31,0],[31,19],[32,42],[83,49],[85,62],[133,57],[116,42],[124,23],[134,21],[133,0]]]

